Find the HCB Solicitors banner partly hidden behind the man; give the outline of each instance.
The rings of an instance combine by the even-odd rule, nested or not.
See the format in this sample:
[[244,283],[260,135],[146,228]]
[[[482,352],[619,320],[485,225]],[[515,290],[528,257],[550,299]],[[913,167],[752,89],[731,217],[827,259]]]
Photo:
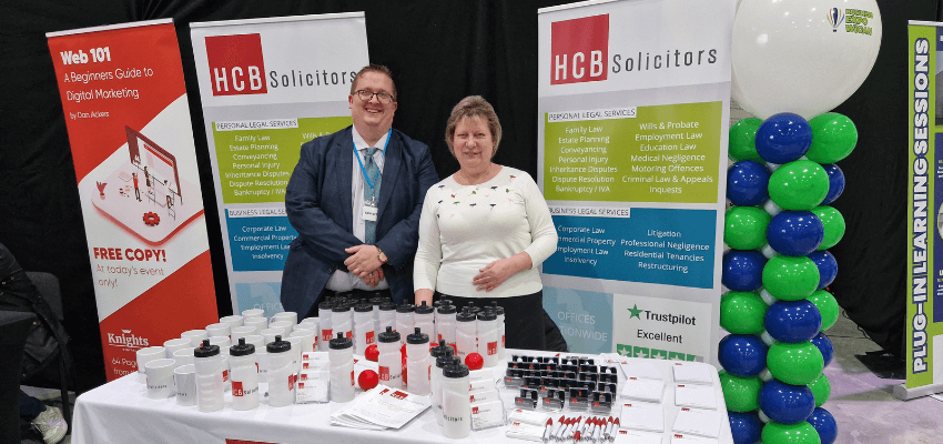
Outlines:
[[352,123],[351,82],[369,60],[364,13],[191,23],[190,32],[233,312],[271,316],[282,311],[297,236],[285,186],[302,143]]

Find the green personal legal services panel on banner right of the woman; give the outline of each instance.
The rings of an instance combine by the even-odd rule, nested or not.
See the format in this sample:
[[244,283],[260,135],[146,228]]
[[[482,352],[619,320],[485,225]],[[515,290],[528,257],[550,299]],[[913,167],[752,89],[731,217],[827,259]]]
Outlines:
[[716,203],[722,102],[638,107],[631,118],[554,119],[544,195],[554,201]]

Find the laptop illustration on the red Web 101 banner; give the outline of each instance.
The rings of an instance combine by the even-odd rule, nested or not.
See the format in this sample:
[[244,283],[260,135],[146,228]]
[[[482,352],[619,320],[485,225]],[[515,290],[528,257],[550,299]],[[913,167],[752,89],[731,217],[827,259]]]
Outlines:
[[92,203],[128,231],[162,243],[203,213],[200,188],[180,176],[169,150],[130,127],[124,132],[130,162],[97,180]]

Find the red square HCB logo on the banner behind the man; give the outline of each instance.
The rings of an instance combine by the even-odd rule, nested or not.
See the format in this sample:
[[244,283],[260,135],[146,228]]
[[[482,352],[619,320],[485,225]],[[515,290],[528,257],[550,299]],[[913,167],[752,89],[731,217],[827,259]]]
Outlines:
[[207,37],[206,61],[213,95],[268,92],[260,34]]

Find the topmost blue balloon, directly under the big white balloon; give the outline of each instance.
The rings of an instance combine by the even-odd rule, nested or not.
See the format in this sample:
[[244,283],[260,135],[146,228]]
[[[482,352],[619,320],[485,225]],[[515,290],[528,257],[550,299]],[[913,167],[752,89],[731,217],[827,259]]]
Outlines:
[[799,114],[771,115],[757,130],[757,153],[767,162],[789,163],[805,155],[812,145],[812,128]]

